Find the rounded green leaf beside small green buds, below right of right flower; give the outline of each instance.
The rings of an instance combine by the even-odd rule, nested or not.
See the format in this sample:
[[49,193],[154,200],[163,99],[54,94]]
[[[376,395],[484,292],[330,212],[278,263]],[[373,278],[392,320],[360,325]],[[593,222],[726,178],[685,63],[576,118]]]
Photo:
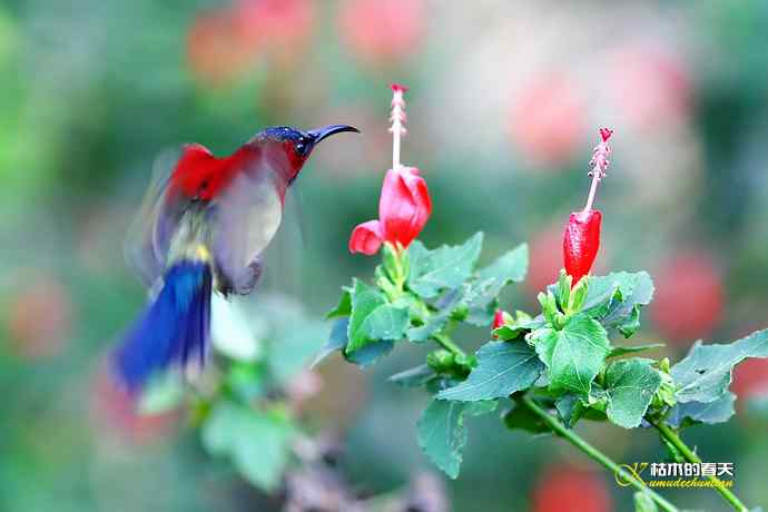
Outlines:
[[661,376],[651,363],[648,360],[618,361],[605,371],[605,412],[617,425],[634,429],[646,415],[661,385]]

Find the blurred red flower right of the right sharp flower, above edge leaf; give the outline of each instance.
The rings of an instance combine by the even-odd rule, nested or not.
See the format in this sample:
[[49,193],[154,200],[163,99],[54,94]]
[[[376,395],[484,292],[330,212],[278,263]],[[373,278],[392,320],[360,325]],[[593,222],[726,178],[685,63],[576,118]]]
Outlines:
[[653,322],[671,342],[688,345],[709,335],[722,314],[722,283],[712,259],[681,252],[654,273]]

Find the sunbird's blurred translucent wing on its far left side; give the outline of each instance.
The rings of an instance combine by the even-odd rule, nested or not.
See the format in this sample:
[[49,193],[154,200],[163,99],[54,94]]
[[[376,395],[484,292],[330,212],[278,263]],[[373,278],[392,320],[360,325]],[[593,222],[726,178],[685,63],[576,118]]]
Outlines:
[[169,205],[166,191],[183,147],[160,154],[152,165],[152,177],[125,243],[128,263],[145,286],[150,287],[166,268],[170,236],[180,218],[180,205]]

